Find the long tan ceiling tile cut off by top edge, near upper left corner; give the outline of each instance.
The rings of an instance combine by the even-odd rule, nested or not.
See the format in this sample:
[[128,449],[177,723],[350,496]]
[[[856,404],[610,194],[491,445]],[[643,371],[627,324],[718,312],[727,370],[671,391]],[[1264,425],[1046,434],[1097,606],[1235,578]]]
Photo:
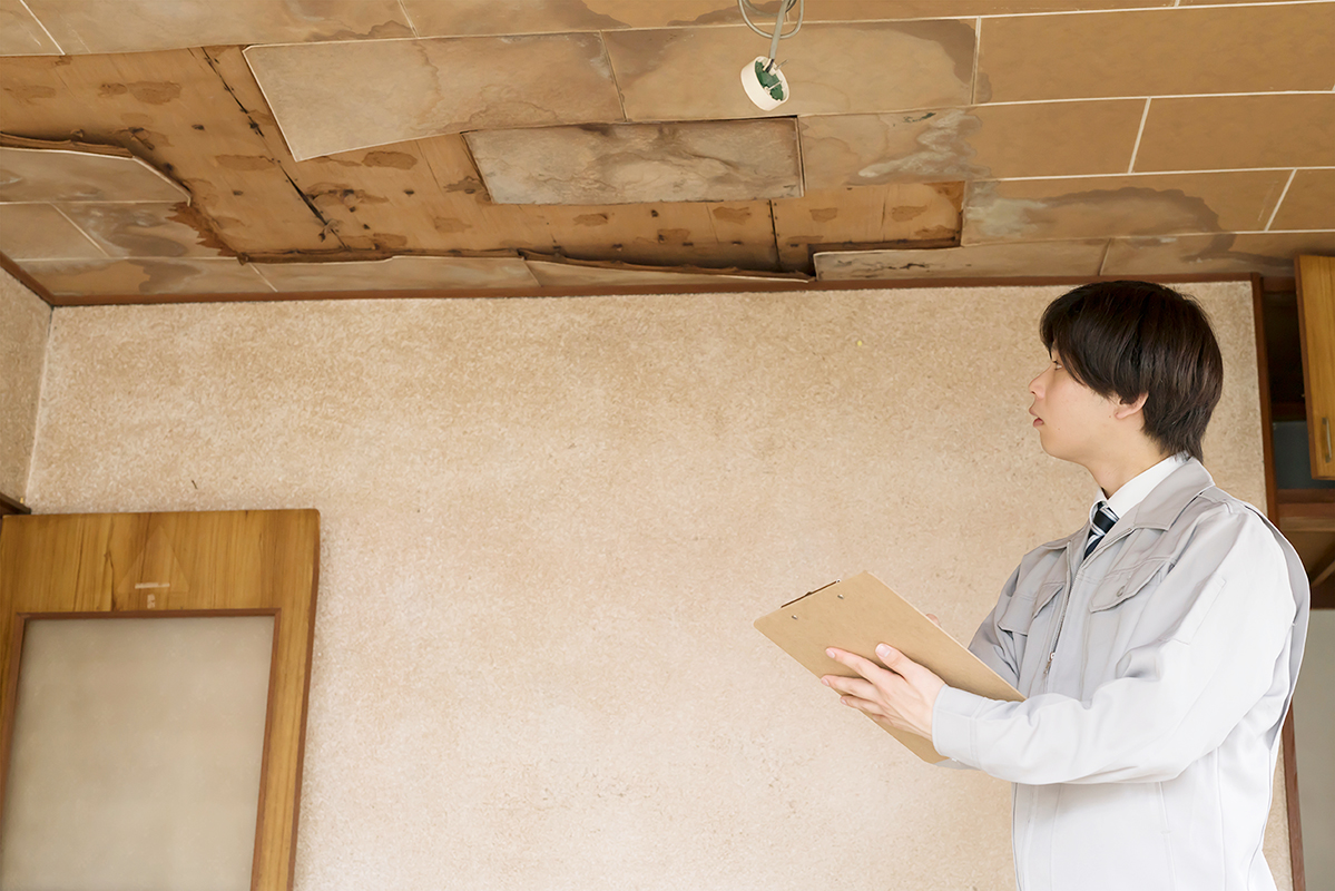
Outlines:
[[396,0],[27,0],[68,53],[411,37]]

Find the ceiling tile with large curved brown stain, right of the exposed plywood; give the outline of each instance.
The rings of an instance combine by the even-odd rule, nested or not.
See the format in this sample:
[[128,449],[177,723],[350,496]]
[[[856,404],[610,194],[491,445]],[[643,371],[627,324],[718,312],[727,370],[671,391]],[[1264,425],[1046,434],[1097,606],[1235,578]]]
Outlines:
[[964,244],[1262,230],[1290,171],[969,183]]

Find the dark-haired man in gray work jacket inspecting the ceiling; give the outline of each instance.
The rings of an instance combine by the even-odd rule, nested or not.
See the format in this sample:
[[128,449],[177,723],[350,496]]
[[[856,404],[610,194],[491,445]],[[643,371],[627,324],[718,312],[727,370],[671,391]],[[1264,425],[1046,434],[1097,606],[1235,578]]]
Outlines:
[[1013,783],[1024,891],[1271,891],[1262,836],[1308,585],[1279,530],[1200,464],[1223,382],[1210,322],[1167,287],[1101,282],[1040,330],[1033,426],[1103,497],[1025,554],[969,644],[1027,700],[947,687],[884,644],[890,671],[832,649],[860,677],[822,680]]

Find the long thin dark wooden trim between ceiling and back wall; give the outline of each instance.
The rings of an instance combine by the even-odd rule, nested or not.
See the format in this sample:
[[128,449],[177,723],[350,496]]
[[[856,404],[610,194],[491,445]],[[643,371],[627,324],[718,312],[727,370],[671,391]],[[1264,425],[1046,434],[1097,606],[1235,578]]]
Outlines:
[[[1255,274],[1228,273],[1211,275],[1137,275],[1133,281],[1159,285],[1195,285],[1203,282],[1248,282]],[[734,282],[720,277],[717,285],[653,285],[631,287],[523,287],[471,290],[399,290],[399,291],[278,291],[246,294],[59,294],[49,298],[52,306],[131,306],[160,303],[270,303],[274,301],[376,301],[376,299],[503,299],[535,297],[639,297],[672,294],[741,294],[781,291],[880,291],[898,289],[941,287],[1043,287],[1060,285],[1088,285],[1089,282],[1120,282],[1125,275],[1056,275],[1024,278],[916,278],[916,279],[858,279],[850,282],[797,282],[792,279]]]

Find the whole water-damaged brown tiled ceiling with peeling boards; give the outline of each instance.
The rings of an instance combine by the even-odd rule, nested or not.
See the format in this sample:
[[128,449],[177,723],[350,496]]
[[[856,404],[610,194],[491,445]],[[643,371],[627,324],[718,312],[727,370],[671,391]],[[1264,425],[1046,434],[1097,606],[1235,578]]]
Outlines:
[[762,112],[768,47],[730,0],[0,0],[0,251],[71,301],[1335,252],[1335,3],[806,0]]

